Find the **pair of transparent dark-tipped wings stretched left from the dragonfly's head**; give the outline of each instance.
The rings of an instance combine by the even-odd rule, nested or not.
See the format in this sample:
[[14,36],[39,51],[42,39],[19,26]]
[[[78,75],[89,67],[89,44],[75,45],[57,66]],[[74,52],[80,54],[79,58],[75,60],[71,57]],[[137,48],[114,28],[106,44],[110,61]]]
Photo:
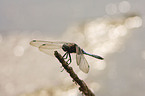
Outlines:
[[66,42],[51,42],[51,41],[41,41],[33,40],[30,42],[30,45],[38,47],[40,51],[48,54],[54,55],[54,51],[62,51],[62,45]]

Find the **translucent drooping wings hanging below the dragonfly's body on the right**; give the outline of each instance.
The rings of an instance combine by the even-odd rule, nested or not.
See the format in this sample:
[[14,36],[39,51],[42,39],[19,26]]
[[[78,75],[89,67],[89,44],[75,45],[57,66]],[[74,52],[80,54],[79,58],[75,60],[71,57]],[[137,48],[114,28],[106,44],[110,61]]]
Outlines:
[[76,47],[76,62],[80,70],[82,70],[84,73],[89,72],[89,64],[85,59],[82,50],[79,47]]

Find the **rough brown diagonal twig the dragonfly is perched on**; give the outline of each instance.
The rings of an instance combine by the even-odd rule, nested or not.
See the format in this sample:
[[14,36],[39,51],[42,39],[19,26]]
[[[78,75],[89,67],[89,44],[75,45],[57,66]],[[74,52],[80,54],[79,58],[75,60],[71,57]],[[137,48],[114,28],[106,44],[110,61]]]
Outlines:
[[88,86],[86,85],[86,83],[83,80],[80,80],[79,77],[77,76],[77,74],[75,74],[75,72],[73,71],[72,67],[68,66],[68,63],[65,62],[65,60],[63,59],[63,57],[57,52],[54,52],[55,57],[59,60],[59,62],[62,64],[62,66],[64,67],[64,69],[70,74],[71,78],[73,79],[73,81],[75,81],[80,87],[79,90],[82,91],[83,94],[85,94],[85,96],[95,96],[91,90],[88,88]]

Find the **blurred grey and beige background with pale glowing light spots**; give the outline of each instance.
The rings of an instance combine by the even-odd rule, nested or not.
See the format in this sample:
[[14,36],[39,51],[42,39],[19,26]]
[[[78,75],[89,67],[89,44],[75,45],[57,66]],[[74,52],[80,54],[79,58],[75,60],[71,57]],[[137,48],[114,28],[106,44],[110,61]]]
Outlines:
[[[145,1],[0,0],[0,96],[82,96],[33,39],[75,42],[105,59],[72,66],[96,96],[144,96]],[[63,54],[62,54],[63,55]]]

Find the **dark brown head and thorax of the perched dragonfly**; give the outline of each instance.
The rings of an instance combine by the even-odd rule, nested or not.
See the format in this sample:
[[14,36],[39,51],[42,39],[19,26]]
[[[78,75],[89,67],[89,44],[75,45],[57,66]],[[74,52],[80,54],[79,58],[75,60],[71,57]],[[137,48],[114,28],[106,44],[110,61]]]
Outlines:
[[63,44],[62,49],[68,53],[76,53],[76,46],[77,44],[75,43],[65,43]]

